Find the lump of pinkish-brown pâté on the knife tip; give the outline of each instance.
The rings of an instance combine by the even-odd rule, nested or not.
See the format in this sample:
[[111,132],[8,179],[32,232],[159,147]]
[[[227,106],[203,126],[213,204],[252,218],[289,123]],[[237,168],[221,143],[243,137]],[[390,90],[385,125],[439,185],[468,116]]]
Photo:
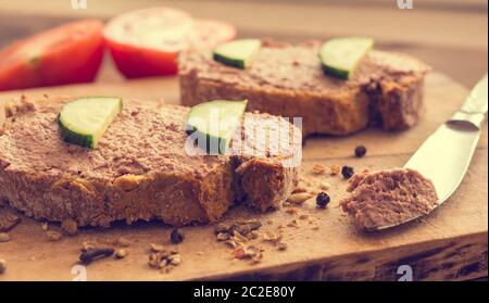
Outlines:
[[340,204],[359,229],[375,230],[428,214],[438,197],[430,180],[418,172],[396,168],[363,172],[350,179],[350,197]]

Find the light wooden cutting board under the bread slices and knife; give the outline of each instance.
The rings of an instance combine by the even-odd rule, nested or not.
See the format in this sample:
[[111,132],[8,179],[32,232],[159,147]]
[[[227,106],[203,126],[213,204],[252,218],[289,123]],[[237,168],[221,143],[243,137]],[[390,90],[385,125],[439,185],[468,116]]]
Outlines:
[[[29,96],[163,98],[167,103],[178,103],[179,99],[174,78],[75,85],[24,92]],[[18,91],[0,93],[0,101],[18,94]],[[39,222],[23,217],[22,223],[10,231],[12,240],[0,243],[0,258],[8,262],[8,269],[0,275],[0,280],[76,279],[79,275],[72,269],[82,243],[87,240],[112,241],[120,236],[131,241],[127,249],[129,255],[120,261],[108,258],[90,264],[86,268],[88,280],[397,280],[401,277],[398,269],[402,265],[411,266],[415,280],[464,280],[487,276],[487,127],[468,174],[454,195],[429,216],[390,230],[371,235],[358,232],[338,207],[347,182],[339,176],[311,172],[314,164],[328,167],[350,165],[356,171],[402,166],[429,134],[460,108],[466,94],[466,88],[442,74],[432,73],[426,83],[426,109],[416,127],[403,132],[369,129],[346,138],[308,139],[303,149],[303,184],[309,182],[311,189],[317,190],[322,182],[330,185],[331,203],[327,210],[316,210],[312,199],[302,206],[284,207],[268,214],[256,214],[241,206],[225,216],[226,220],[260,219],[262,232],[276,232],[281,226],[287,250],[279,251],[262,239],[253,240],[252,244],[264,249],[263,260],[258,264],[234,260],[233,250],[216,241],[212,226],[184,228],[186,239],[177,245],[183,263],[162,274],[148,266],[150,243],[173,247],[168,240],[171,228],[161,223],[88,228],[75,237],[49,242]],[[364,144],[368,150],[363,159],[352,156],[358,144]],[[443,152],[443,147],[439,152]],[[50,228],[59,229],[59,226],[51,225]]]

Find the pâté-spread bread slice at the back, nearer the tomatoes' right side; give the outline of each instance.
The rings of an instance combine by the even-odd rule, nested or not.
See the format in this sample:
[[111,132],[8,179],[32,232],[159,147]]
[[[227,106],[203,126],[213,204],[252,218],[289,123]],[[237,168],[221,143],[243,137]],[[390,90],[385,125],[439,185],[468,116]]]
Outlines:
[[248,99],[248,110],[303,117],[303,136],[348,135],[381,122],[390,130],[413,126],[419,116],[429,67],[405,54],[374,50],[352,78],[326,76],[321,43],[263,41],[243,71],[213,61],[210,51],[179,55],[181,102]]

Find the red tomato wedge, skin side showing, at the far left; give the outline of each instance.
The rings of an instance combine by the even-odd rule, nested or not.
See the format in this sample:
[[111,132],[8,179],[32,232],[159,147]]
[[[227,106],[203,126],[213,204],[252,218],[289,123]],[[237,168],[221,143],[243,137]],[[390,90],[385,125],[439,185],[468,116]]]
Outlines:
[[72,22],[0,52],[0,90],[92,81],[103,56],[103,23]]

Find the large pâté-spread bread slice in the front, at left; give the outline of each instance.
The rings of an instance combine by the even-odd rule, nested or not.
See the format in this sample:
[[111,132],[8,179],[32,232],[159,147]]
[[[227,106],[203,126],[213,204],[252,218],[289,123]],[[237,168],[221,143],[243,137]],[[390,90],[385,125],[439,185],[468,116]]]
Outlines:
[[[189,155],[184,148],[188,108],[124,100],[123,112],[90,150],[61,140],[57,115],[66,100],[23,97],[5,109],[0,200],[29,216],[71,218],[79,226],[121,219],[209,223],[236,201],[261,211],[278,207],[297,184],[298,167],[284,161],[300,148],[300,131],[288,124],[290,143],[272,129],[269,138],[279,149],[250,132],[252,127],[264,131],[261,121],[279,117],[247,113],[249,123],[237,131],[229,154]],[[244,153],[240,147],[248,147]]]

